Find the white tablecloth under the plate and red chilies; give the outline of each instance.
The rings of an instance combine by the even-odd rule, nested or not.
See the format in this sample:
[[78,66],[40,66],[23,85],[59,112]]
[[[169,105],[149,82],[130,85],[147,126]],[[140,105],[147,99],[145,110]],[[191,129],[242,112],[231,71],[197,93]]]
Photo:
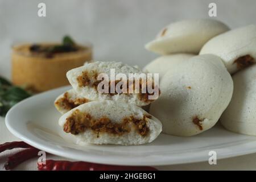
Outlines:
[[[5,126],[5,118],[0,117],[0,143],[12,142],[20,140],[14,137]],[[3,166],[6,159],[11,154],[14,154],[18,150],[9,150],[0,154],[0,170],[3,170]],[[47,159],[53,160],[69,160],[55,155],[47,155]],[[37,160],[34,158],[20,164],[15,170],[36,170]],[[256,170],[256,154],[238,156],[236,158],[217,160],[217,165],[209,165],[208,162],[191,163],[191,164],[179,164],[171,166],[155,166],[160,170]]]

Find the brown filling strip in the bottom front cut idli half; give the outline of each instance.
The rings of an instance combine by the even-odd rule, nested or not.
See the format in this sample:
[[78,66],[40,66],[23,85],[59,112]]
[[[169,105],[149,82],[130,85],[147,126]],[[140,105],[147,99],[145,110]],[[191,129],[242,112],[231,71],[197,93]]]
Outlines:
[[129,123],[132,123],[138,133],[144,137],[149,131],[146,118],[150,117],[151,116],[144,115],[142,119],[137,119],[130,116],[123,118],[121,123],[114,123],[107,117],[95,119],[90,114],[81,113],[80,110],[76,109],[74,113],[66,119],[63,130],[73,135],[82,133],[86,129],[97,133],[97,137],[99,137],[100,133],[123,135],[130,132],[131,127]]

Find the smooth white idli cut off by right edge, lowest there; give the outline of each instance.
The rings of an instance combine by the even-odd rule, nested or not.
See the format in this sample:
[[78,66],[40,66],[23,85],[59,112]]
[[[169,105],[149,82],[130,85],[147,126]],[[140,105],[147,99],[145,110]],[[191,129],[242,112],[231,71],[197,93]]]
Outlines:
[[233,76],[232,100],[221,116],[221,124],[228,130],[256,136],[256,65]]

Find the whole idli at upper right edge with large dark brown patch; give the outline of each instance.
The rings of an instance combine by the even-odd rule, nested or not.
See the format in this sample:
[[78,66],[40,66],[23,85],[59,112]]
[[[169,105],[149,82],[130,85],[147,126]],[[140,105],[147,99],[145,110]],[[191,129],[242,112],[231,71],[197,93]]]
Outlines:
[[249,67],[256,59],[256,25],[230,30],[210,39],[200,55],[209,53],[221,57],[230,74]]

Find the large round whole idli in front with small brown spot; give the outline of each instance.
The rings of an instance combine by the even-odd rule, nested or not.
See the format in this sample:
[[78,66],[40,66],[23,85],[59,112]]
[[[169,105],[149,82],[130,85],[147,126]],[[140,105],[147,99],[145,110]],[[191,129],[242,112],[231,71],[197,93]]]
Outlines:
[[215,125],[232,98],[233,81],[219,57],[202,55],[167,72],[160,90],[150,114],[162,122],[163,133],[187,137]]

